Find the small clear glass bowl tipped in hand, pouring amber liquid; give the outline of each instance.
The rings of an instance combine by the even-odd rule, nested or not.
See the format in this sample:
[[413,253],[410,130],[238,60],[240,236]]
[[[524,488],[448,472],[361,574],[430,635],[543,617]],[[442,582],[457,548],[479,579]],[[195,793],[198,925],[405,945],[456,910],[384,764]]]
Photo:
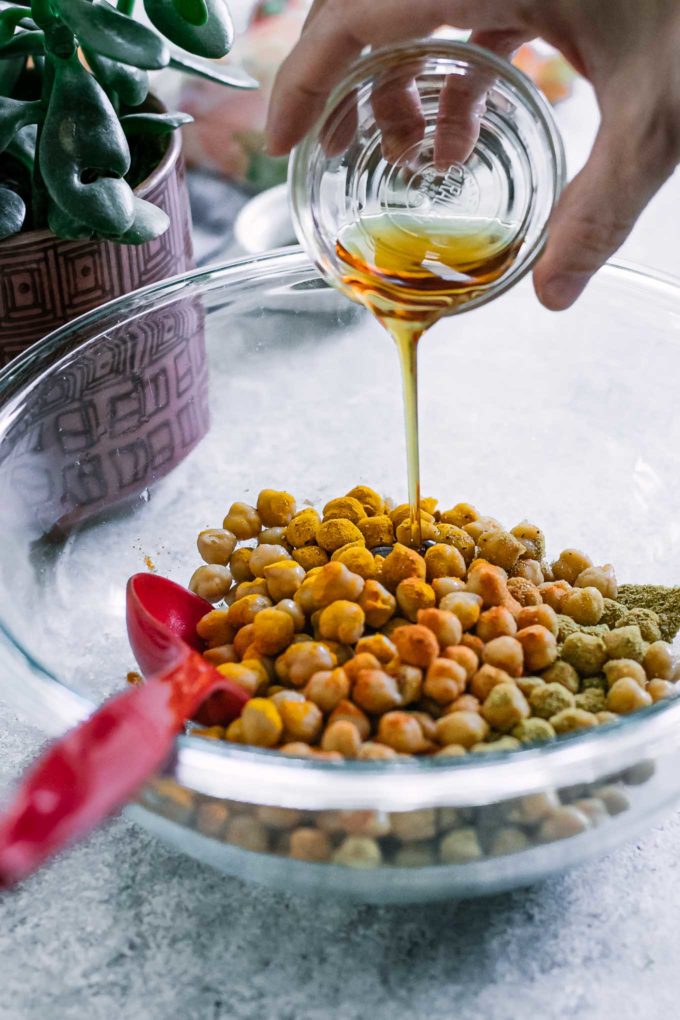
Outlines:
[[455,311],[489,301],[531,268],[564,181],[562,140],[530,80],[487,50],[440,38],[358,60],[289,167],[300,243],[355,300],[336,251],[348,227],[386,217],[406,246],[413,225],[437,237],[499,224],[514,260]]

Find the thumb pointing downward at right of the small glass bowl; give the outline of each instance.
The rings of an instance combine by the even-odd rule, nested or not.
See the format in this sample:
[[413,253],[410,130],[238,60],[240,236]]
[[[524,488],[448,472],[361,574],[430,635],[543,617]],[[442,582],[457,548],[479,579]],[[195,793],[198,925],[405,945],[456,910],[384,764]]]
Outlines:
[[588,162],[564,191],[533,273],[538,299],[551,311],[576,301],[670,176],[675,160],[655,154],[639,134],[603,122]]

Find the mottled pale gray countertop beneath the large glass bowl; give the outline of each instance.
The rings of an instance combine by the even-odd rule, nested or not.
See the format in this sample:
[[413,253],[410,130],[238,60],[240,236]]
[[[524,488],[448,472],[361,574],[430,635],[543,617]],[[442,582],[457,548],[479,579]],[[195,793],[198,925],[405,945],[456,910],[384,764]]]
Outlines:
[[[573,168],[589,97],[560,115]],[[676,174],[624,255],[677,271],[679,198]],[[0,788],[41,741],[0,705]],[[679,848],[675,815],[531,889],[378,909],[243,885],[117,819],[0,901],[0,1020],[662,1020]]]

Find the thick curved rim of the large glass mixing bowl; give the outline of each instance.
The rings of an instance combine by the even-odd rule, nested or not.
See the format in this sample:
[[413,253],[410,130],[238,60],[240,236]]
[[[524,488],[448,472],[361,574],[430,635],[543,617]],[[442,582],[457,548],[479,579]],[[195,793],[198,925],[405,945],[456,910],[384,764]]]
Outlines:
[[[11,408],[13,399],[31,390],[46,371],[55,370],[61,360],[53,360],[55,354],[65,357],[82,346],[69,347],[69,339],[89,329],[84,343],[92,343],[98,336],[93,327],[112,315],[115,325],[120,327],[130,317],[158,306],[163,299],[175,300],[185,290],[209,291],[227,283],[253,282],[254,276],[280,279],[282,274],[294,272],[308,277],[313,270],[301,248],[277,249],[256,258],[245,257],[195,269],[107,302],[49,334],[0,370],[0,420],[5,417],[7,407]],[[643,285],[655,289],[680,307],[680,277],[618,260],[609,262],[600,274],[628,278],[633,287]],[[0,672],[0,696],[10,704],[20,705],[19,710],[25,709],[32,698],[41,699],[43,717],[49,717],[53,733],[65,732],[96,708],[92,701],[40,663],[13,636],[0,615],[2,652],[10,660],[9,672],[13,664],[19,670],[23,668],[24,675],[12,674],[10,679],[3,679]],[[25,685],[17,688],[22,693],[12,698],[12,684],[21,684],[22,680]],[[315,762],[181,734],[164,774],[198,793],[254,804],[274,803],[307,810],[380,807],[406,811],[450,805],[452,800],[460,806],[493,803],[600,779],[617,768],[633,764],[637,753],[641,758],[649,757],[664,747],[677,746],[678,742],[680,699],[660,702],[611,726],[582,730],[541,747],[461,759]],[[458,781],[463,777],[464,783]],[[452,779],[457,781],[453,783]]]

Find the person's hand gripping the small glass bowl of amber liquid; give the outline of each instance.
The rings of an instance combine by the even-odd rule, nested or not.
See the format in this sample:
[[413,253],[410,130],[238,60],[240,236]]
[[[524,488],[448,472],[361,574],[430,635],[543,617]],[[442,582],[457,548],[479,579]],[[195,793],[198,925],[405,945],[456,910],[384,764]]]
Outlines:
[[[680,5],[676,0],[316,0],[274,85],[270,152],[285,153],[300,141],[365,46],[421,38],[442,24],[471,29],[472,42],[503,56],[540,36],[595,90],[601,113],[597,137],[555,209],[547,246],[534,269],[545,307],[568,308],[680,161]],[[395,149],[419,130],[408,89],[402,80],[380,90],[377,109],[373,97],[383,137]],[[441,97],[437,161],[454,161],[459,150],[469,151],[482,104],[483,91],[461,95],[459,88]]]

